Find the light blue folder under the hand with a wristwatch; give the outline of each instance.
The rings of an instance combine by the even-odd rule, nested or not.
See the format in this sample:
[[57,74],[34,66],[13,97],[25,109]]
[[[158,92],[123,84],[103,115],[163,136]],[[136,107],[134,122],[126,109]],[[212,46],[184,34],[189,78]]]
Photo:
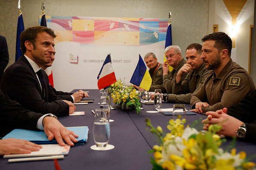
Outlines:
[[[75,132],[78,135],[77,143],[75,144],[84,144],[88,138],[88,126],[79,126],[79,127],[67,127],[70,131]],[[25,129],[14,129],[9,134],[7,134],[3,139],[15,138],[28,140],[37,144],[57,144],[55,139],[48,140],[44,131],[30,131]]]

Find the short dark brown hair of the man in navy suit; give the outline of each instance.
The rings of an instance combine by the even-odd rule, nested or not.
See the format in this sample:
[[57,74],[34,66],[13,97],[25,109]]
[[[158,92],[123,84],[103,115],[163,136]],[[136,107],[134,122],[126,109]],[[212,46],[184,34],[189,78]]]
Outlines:
[[42,32],[49,33],[51,36],[53,36],[53,38],[56,38],[56,35],[52,29],[43,27],[43,26],[29,27],[26,30],[22,31],[19,38],[20,38],[20,47],[23,55],[27,51],[27,48],[25,46],[25,41],[31,42],[35,48],[37,34]]

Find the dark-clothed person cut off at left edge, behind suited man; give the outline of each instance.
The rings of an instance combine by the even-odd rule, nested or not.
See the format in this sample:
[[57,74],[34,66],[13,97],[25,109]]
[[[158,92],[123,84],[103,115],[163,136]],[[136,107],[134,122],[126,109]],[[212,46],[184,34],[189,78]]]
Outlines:
[[9,53],[6,38],[0,35],[0,82],[3,77],[3,71],[9,62]]

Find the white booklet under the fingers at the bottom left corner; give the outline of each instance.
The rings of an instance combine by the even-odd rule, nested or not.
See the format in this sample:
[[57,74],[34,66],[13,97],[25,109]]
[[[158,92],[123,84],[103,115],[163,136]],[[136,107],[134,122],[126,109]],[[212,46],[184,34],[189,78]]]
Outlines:
[[30,154],[11,154],[4,155],[3,158],[17,158],[17,157],[35,157],[35,156],[53,156],[53,155],[68,155],[70,146],[60,146],[59,144],[42,145],[39,151],[33,151]]

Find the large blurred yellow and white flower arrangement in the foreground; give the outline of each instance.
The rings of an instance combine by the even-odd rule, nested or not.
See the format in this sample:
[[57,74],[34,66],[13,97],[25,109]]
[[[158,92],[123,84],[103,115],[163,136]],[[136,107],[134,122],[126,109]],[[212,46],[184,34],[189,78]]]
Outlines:
[[255,170],[253,162],[246,161],[246,153],[224,152],[219,148],[222,141],[215,134],[219,125],[210,125],[209,131],[198,132],[195,128],[184,128],[185,119],[171,119],[170,131],[162,137],[162,127],[153,127],[150,119],[146,124],[156,134],[161,145],[153,146],[155,159],[151,158],[154,170]]

